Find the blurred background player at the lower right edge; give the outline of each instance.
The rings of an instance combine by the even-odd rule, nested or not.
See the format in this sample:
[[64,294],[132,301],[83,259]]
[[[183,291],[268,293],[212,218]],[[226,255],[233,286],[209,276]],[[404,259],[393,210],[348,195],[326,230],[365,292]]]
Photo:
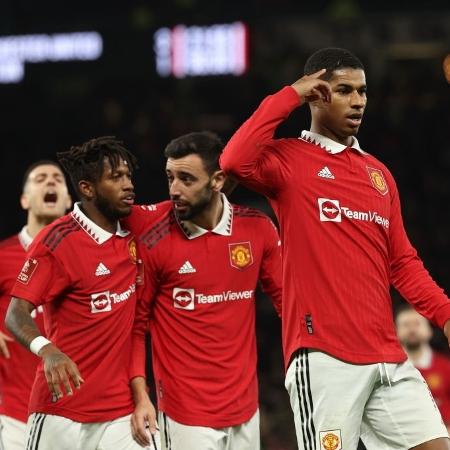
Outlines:
[[425,317],[409,305],[396,315],[397,335],[409,359],[425,378],[450,429],[450,360],[430,346],[433,330]]

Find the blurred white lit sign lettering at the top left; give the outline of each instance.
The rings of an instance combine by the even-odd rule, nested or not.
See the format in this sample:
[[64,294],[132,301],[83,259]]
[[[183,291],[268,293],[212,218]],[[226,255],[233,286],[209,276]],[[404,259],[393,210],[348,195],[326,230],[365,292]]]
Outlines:
[[0,83],[19,83],[25,63],[93,61],[102,55],[103,39],[95,31],[0,37]]

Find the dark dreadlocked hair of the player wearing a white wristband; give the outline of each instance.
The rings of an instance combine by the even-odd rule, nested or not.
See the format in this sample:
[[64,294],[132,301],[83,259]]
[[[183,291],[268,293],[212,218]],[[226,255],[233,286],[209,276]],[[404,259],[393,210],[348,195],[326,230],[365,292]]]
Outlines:
[[100,180],[105,170],[105,159],[112,170],[115,170],[121,161],[126,161],[131,172],[138,167],[136,157],[115,136],[91,139],[80,146],[70,147],[66,152],[58,152],[56,156],[69,174],[77,192],[80,181],[95,183]]

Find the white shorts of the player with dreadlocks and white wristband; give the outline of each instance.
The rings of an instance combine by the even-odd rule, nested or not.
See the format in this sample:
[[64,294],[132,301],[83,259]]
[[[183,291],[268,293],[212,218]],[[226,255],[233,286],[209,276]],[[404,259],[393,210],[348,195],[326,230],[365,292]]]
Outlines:
[[[131,435],[131,415],[109,422],[80,423],[33,413],[27,423],[27,450],[142,450]],[[159,436],[153,442],[159,442]],[[159,449],[153,444],[148,450]]]

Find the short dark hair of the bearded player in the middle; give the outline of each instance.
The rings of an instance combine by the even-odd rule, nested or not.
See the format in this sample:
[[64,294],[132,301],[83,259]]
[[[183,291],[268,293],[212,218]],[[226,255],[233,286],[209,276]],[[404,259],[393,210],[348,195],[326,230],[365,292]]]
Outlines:
[[223,147],[224,144],[217,134],[211,131],[195,131],[170,141],[164,150],[164,155],[166,158],[179,159],[196,154],[211,175],[216,170],[220,170],[219,158]]

